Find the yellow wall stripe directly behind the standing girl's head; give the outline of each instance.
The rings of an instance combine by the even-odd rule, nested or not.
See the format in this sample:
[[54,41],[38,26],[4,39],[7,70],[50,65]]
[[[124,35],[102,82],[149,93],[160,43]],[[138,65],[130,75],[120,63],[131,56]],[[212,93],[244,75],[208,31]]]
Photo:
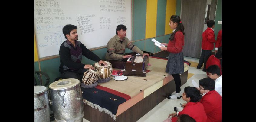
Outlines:
[[169,26],[169,21],[172,15],[176,12],[176,0],[167,0],[166,2],[166,16],[165,16],[165,35],[172,33],[173,29]]

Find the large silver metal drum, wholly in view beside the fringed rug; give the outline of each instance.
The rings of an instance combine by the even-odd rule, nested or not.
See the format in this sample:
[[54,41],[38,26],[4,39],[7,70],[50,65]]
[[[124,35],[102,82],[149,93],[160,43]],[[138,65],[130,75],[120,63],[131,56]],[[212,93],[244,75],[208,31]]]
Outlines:
[[57,122],[83,122],[83,97],[78,79],[63,79],[49,85]]

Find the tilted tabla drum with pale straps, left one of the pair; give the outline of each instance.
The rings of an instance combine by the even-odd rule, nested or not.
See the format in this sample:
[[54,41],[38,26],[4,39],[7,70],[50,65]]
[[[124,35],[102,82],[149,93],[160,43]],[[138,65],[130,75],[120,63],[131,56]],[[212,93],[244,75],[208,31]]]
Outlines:
[[84,72],[82,81],[85,85],[94,84],[97,82],[99,74],[100,72],[97,69],[88,69],[86,72]]

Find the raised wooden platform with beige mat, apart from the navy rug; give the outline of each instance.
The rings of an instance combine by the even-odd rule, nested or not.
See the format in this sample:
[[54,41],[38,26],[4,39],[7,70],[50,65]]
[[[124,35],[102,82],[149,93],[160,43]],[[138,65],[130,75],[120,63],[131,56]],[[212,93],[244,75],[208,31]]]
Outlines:
[[[149,57],[149,63],[151,64],[151,66],[148,66],[150,72],[146,73],[146,77],[128,76],[125,81],[111,79],[107,83],[98,84],[101,87],[130,96],[129,99],[118,105],[116,114],[112,114],[100,105],[93,104],[94,108],[92,108],[90,107],[92,105],[88,104],[91,102],[84,99],[84,118],[90,122],[136,122],[166,99],[166,96],[175,91],[175,82],[172,75],[165,72],[167,60]],[[188,69],[189,66],[184,63],[185,72],[180,75],[181,85],[187,82]],[[103,110],[106,110],[107,113]]]

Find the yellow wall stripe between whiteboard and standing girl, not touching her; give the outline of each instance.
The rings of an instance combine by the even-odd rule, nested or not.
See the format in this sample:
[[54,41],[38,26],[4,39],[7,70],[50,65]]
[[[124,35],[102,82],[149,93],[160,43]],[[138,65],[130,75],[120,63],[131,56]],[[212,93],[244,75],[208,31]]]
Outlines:
[[156,37],[157,0],[147,0],[145,38]]

